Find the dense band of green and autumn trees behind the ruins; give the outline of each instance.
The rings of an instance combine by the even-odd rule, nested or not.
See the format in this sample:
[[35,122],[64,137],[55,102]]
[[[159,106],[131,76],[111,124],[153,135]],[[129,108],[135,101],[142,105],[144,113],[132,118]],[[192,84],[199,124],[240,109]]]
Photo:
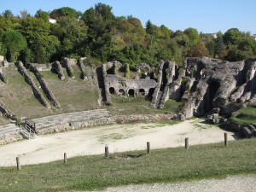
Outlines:
[[[49,16],[56,19],[55,24],[49,23]],[[256,41],[249,32],[232,28],[224,34],[217,32],[217,38],[199,34],[191,27],[174,32],[150,20],[142,24],[132,16],[115,16],[104,3],[84,13],[63,7],[50,13],[39,9],[34,16],[21,11],[20,16],[14,16],[5,10],[0,15],[0,26],[0,55],[23,63],[86,56],[92,65],[116,60],[133,68],[142,62],[154,66],[160,60],[182,63],[185,56],[229,61],[256,56]]]

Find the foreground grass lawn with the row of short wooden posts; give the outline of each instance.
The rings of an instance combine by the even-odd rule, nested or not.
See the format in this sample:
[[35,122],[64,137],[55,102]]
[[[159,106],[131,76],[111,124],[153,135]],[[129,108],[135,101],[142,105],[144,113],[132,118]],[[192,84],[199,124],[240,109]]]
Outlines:
[[[172,183],[191,179],[256,174],[256,139],[76,157],[33,165],[0,167],[1,191],[67,191],[104,189],[131,183]],[[145,143],[146,145],[146,143]],[[103,148],[102,148],[103,151]],[[139,154],[139,155],[137,155]],[[68,157],[68,154],[67,154]]]

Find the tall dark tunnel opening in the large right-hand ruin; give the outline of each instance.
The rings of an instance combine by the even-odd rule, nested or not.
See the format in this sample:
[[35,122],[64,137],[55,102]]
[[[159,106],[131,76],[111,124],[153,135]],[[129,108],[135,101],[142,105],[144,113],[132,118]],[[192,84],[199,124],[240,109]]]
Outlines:
[[207,93],[204,96],[204,101],[205,101],[205,113],[207,113],[209,110],[211,110],[212,108],[214,108],[213,105],[213,99],[217,93],[217,90],[219,88],[220,84],[217,81],[212,81],[208,88],[207,88]]

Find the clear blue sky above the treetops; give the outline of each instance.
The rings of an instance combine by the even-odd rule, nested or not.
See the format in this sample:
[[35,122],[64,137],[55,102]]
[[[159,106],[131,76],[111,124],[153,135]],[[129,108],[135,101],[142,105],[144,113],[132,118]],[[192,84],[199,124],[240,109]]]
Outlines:
[[38,9],[52,11],[62,7],[84,13],[96,3],[111,6],[115,16],[137,17],[143,26],[150,20],[172,31],[193,27],[198,32],[213,33],[238,28],[256,33],[256,0],[0,0],[0,14],[9,9],[20,15],[26,9],[35,15]]

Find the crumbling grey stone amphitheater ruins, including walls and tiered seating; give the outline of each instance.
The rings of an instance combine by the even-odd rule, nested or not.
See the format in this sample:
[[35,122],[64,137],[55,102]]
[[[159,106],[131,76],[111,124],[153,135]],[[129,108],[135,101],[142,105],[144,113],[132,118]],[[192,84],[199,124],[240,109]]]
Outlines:
[[[151,102],[152,108],[164,108],[168,99],[183,102],[183,109],[173,114],[172,119],[201,117],[205,114],[230,117],[240,108],[256,105],[256,59],[230,62],[207,57],[186,58],[180,65],[173,61],[160,61],[157,69],[141,63],[137,64],[132,74],[127,71],[126,65],[111,61],[93,69],[91,75],[85,70],[86,58],[79,61],[63,58],[47,65],[26,66],[20,61],[0,61],[0,90],[4,84],[8,84],[9,77],[4,71],[10,66],[19,71],[38,102],[47,109],[57,110],[62,103],[49,88],[47,78],[41,72],[52,71],[60,81],[75,79],[78,77],[74,76],[74,66],[79,67],[81,79],[93,79],[96,82],[99,105],[111,105],[111,95],[145,97]],[[32,75],[35,77],[32,78]],[[1,98],[0,114],[10,122],[0,125],[0,144],[32,138],[36,134],[105,125],[115,121],[106,108],[26,119],[12,113]],[[23,127],[21,131],[20,126]],[[255,124],[246,128],[247,134],[256,132]]]

